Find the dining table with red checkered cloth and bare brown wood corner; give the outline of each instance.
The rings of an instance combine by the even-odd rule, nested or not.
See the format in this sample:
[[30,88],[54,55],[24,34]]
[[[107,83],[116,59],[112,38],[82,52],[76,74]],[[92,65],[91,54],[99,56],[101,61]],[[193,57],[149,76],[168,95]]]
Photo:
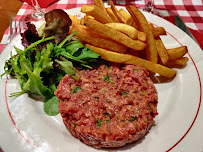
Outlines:
[[[104,0],[105,3],[108,1]],[[136,7],[143,8],[147,5],[148,0],[113,0],[115,5],[135,5]],[[93,0],[59,0],[55,3],[52,1],[47,10],[51,9],[71,9],[81,7],[84,4],[93,4]],[[39,3],[40,4],[40,3]],[[200,45],[203,44],[203,1],[202,0],[154,0],[155,8],[167,11],[165,19],[174,23],[174,14],[179,15],[186,26],[190,29],[192,34],[198,39]],[[20,0],[1,0],[0,2],[0,53],[5,48],[6,41],[9,35],[10,18],[23,18],[31,13],[33,7],[30,3]]]

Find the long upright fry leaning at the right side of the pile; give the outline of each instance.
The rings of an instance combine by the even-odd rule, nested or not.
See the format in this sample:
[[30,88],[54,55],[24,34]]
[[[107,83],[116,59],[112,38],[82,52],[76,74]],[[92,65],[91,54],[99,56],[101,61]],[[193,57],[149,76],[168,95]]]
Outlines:
[[146,59],[151,61],[152,63],[158,63],[156,43],[145,16],[138,8],[134,6],[128,5],[126,6],[126,8],[128,12],[131,14],[135,23],[138,25],[139,30],[146,33],[146,36],[147,36],[147,40],[146,40],[147,47],[145,48]]

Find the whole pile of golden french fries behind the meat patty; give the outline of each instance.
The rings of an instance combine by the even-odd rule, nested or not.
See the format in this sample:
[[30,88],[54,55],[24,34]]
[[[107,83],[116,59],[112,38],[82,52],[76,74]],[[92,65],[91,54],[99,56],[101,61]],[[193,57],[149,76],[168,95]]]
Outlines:
[[126,11],[118,10],[112,1],[108,8],[102,0],[94,0],[94,3],[82,6],[84,18],[79,20],[70,16],[69,32],[76,31],[78,39],[102,59],[138,65],[168,78],[176,74],[173,67],[188,62],[184,57],[187,47],[166,49],[160,37],[167,35],[165,29],[149,24],[135,6],[126,6]]

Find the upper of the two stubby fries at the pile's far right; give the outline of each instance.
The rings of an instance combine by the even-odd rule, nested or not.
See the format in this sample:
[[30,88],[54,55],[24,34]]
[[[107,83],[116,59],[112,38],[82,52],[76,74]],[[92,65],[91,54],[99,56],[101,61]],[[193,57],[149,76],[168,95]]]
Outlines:
[[186,46],[181,46],[173,49],[167,49],[169,59],[177,59],[183,57],[187,52],[188,49]]

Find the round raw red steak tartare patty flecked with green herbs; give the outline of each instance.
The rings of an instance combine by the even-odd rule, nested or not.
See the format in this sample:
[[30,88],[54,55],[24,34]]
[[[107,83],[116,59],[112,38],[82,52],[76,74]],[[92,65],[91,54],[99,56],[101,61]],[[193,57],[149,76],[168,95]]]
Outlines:
[[101,65],[60,81],[55,95],[69,132],[88,145],[121,147],[144,136],[157,113],[157,91],[146,69]]

